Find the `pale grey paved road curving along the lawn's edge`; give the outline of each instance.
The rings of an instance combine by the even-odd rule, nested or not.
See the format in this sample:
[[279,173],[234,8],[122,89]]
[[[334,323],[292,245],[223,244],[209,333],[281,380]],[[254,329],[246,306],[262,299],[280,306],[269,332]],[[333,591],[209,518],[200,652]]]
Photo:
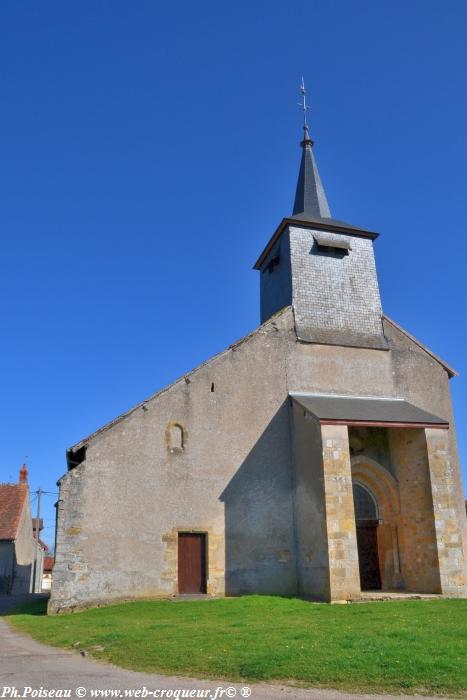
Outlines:
[[[2,600],[3,598],[3,600]],[[11,605],[11,598],[5,600],[0,596],[0,612]],[[71,698],[76,699],[76,689],[82,688],[81,697],[91,698],[91,689],[128,689],[147,688],[153,690],[205,690],[211,691],[211,695],[198,695],[206,698],[242,698],[246,683],[228,683],[225,681],[198,681],[190,678],[176,678],[161,676],[158,674],[136,673],[116,668],[109,664],[103,664],[89,658],[83,658],[78,652],[55,649],[39,644],[29,637],[13,631],[5,620],[0,619],[0,698],[12,697],[6,694],[3,688],[18,688],[19,697],[23,694],[23,688],[39,689],[69,689]],[[223,695],[215,696],[216,689],[222,688]],[[228,689],[228,690],[227,690]],[[9,692],[9,691],[7,691]],[[244,692],[244,691],[243,691]],[[234,695],[235,693],[235,695]],[[32,694],[29,698],[34,697]],[[36,696],[39,697],[39,696]],[[122,693],[122,697],[125,697]],[[143,696],[144,697],[144,696]],[[152,700],[154,696],[148,695]],[[175,693],[159,695],[155,697],[177,698]],[[178,697],[183,696],[181,693]],[[192,697],[196,697],[192,696]],[[252,700],[343,700],[354,698],[367,700],[388,700],[389,695],[349,695],[334,690],[312,690],[292,688],[283,685],[257,683],[251,686]],[[401,697],[397,696],[398,700]],[[410,696],[412,700],[420,696]],[[426,698],[425,698],[426,700]],[[432,699],[434,700],[434,699]],[[436,700],[440,700],[439,697]]]

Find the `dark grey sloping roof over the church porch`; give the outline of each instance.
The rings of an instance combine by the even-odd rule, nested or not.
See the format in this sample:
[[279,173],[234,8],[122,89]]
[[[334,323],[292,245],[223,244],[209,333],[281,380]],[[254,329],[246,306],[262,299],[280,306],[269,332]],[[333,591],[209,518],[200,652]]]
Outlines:
[[392,428],[449,428],[449,422],[403,399],[291,393],[291,398],[323,425]]

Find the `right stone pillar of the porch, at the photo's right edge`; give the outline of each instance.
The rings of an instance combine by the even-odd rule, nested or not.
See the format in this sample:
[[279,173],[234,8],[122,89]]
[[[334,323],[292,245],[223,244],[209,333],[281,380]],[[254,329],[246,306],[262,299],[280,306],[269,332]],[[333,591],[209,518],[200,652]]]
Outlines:
[[462,530],[456,501],[456,474],[449,457],[448,431],[425,430],[438,549],[441,592],[467,595]]

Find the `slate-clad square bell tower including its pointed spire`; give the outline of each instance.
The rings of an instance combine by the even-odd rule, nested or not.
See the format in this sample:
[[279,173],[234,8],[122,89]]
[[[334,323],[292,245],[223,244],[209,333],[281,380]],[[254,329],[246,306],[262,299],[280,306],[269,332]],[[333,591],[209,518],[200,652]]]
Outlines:
[[308,131],[303,80],[300,89],[304,123],[293,213],[255,264],[261,322],[291,305],[299,340],[384,350],[373,251],[378,234],[332,218]]

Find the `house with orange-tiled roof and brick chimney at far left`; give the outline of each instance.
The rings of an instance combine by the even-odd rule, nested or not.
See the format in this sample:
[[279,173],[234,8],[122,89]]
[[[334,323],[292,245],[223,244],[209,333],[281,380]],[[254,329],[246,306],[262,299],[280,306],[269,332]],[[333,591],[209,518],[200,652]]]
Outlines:
[[43,551],[33,536],[28,470],[23,464],[18,484],[0,484],[0,593],[29,593],[34,562],[39,593]]

